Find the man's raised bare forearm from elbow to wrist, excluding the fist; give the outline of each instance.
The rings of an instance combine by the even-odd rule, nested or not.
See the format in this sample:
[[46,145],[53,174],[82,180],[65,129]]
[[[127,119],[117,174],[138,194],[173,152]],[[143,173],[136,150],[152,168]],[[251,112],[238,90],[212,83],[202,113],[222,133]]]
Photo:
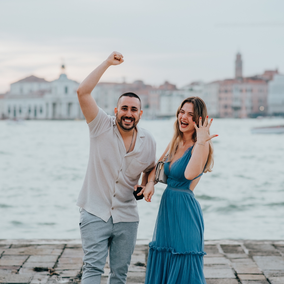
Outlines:
[[85,80],[80,84],[77,93],[78,96],[89,95],[101,79],[101,76],[105,73],[106,69],[110,66],[106,60],[93,70]]

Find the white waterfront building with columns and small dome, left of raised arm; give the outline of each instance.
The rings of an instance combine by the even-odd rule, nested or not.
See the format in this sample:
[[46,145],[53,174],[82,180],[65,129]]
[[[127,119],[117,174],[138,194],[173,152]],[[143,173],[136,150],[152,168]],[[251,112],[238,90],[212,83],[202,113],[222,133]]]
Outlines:
[[30,76],[12,83],[10,91],[0,98],[0,118],[83,119],[78,86],[66,74],[52,82]]

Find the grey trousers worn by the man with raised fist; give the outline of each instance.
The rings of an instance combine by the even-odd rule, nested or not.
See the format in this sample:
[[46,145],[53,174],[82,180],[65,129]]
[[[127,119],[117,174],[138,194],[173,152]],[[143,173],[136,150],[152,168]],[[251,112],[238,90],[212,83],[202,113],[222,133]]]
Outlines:
[[139,222],[113,224],[82,209],[80,232],[84,251],[82,284],[100,284],[109,250],[108,284],[125,284]]

